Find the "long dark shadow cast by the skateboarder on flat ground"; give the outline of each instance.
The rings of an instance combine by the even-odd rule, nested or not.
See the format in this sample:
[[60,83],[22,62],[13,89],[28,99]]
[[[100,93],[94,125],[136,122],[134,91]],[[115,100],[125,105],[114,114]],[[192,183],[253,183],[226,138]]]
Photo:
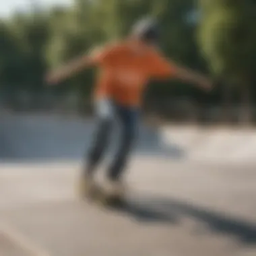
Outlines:
[[174,199],[136,196],[128,198],[126,205],[115,210],[127,214],[139,222],[162,222],[177,225],[182,224],[183,218],[190,218],[195,221],[196,226],[203,224],[206,232],[236,236],[242,243],[256,245],[255,223]]

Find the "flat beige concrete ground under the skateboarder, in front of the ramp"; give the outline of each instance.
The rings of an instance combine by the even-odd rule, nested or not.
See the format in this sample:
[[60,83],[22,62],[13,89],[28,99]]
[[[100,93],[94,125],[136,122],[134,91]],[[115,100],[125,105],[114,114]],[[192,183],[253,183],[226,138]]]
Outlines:
[[1,256],[255,256],[256,172],[138,156],[128,206],[75,195],[77,162],[0,164]]

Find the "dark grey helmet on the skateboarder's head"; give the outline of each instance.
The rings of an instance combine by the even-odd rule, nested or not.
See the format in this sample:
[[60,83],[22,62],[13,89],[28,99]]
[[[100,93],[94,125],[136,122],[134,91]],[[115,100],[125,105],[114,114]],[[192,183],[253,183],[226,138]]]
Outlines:
[[133,36],[150,43],[156,43],[159,38],[158,23],[153,18],[143,18],[132,29]]

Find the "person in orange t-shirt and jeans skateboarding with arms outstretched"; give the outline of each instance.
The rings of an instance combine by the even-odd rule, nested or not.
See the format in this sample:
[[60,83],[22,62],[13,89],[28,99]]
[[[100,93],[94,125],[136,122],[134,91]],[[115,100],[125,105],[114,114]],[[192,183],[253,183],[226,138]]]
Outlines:
[[123,196],[123,176],[135,142],[143,92],[150,79],[172,77],[197,84],[204,90],[211,88],[203,75],[166,59],[158,50],[158,37],[157,22],[142,19],[125,40],[106,44],[47,75],[50,84],[57,84],[86,67],[100,67],[93,97],[97,124],[80,181],[82,196],[96,192],[95,170],[106,152],[115,120],[121,125],[121,137],[117,154],[107,170],[104,189],[109,199]]

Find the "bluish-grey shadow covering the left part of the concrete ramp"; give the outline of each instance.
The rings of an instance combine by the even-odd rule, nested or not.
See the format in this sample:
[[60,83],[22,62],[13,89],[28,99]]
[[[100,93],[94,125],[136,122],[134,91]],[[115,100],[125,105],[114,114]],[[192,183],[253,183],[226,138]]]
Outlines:
[[[93,122],[69,121],[42,117],[15,117],[1,120],[0,160],[79,160],[92,141]],[[113,132],[116,150],[119,134]],[[139,129],[136,154],[183,158],[185,152],[177,145],[166,145],[160,131],[153,127]],[[111,153],[110,153],[111,154]]]

